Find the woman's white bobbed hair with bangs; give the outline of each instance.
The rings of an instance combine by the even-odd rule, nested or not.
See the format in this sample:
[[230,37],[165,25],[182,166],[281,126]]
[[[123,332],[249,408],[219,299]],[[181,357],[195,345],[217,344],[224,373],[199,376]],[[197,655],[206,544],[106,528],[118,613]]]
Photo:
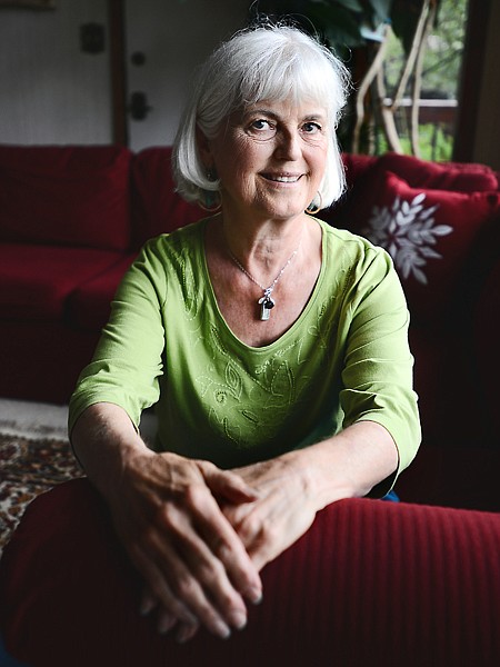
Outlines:
[[201,67],[177,132],[172,162],[179,193],[188,201],[213,198],[197,147],[197,128],[211,139],[228,117],[267,100],[320,102],[329,120],[329,147],[317,206],[339,199],[346,178],[336,128],[346,103],[349,73],[333,53],[298,28],[266,26],[238,32]]

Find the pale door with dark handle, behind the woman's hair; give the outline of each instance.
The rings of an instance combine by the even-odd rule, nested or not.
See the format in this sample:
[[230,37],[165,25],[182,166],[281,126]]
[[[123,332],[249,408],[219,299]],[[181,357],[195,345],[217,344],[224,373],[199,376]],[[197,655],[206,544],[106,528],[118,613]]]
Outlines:
[[194,68],[244,27],[250,1],[123,1],[126,141],[132,150],[170,145]]

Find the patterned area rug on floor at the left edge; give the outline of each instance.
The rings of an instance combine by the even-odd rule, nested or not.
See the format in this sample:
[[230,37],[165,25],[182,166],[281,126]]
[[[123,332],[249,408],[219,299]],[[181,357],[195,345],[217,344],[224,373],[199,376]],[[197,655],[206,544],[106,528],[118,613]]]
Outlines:
[[29,502],[74,477],[68,440],[0,435],[0,555]]

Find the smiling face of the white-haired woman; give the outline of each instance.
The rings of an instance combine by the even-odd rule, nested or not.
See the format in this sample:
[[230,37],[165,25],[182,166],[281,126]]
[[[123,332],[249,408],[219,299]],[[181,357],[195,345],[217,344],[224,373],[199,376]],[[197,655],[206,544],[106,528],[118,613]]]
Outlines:
[[233,113],[201,153],[221,180],[228,216],[287,220],[316,197],[327,165],[327,112],[306,102],[259,102]]

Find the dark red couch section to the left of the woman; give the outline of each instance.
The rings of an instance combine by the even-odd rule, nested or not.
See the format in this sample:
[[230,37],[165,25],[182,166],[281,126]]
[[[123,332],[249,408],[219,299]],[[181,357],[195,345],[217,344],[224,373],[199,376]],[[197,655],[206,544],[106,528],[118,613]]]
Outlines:
[[199,218],[169,156],[0,146],[0,396],[67,402],[141,243]]

